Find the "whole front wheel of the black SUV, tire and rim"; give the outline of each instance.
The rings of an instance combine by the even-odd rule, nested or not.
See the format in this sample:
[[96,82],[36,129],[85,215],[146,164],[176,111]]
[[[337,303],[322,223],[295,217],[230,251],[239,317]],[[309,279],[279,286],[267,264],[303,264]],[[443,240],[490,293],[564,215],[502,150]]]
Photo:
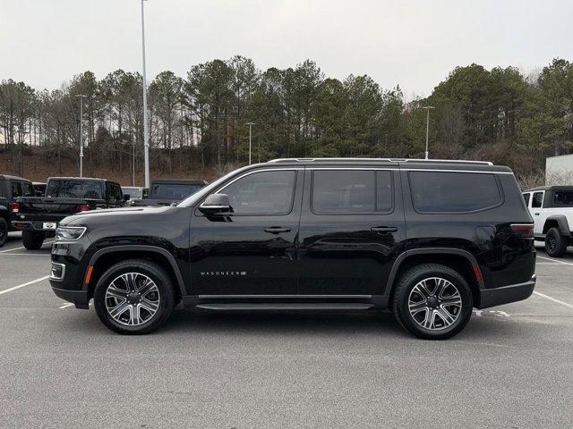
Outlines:
[[[138,297],[143,282],[147,288]],[[98,280],[93,299],[99,320],[108,329],[132,335],[155,331],[175,307],[171,277],[161,266],[143,259],[128,259],[109,268]],[[134,308],[138,309],[133,312]]]

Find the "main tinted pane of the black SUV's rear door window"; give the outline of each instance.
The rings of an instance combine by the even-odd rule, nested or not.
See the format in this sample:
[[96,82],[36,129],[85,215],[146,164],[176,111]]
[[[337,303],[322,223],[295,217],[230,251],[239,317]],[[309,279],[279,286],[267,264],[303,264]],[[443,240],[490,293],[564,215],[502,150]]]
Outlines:
[[320,213],[373,213],[376,185],[373,171],[316,170],[312,209]]

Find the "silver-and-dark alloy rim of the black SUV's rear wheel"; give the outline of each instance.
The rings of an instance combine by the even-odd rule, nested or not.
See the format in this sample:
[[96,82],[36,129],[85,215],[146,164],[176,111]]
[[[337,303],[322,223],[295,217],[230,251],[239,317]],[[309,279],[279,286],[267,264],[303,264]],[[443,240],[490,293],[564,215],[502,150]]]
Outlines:
[[456,323],[461,314],[462,299],[452,282],[429,277],[417,282],[410,291],[408,310],[416,324],[439,331]]

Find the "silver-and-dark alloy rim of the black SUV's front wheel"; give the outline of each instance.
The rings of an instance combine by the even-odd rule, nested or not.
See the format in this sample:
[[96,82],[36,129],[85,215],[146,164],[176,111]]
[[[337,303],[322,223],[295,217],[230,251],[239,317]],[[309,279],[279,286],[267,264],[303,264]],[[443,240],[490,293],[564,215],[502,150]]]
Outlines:
[[159,300],[157,284],[142,273],[123,273],[106,290],[107,313],[126,326],[148,322],[157,313]]

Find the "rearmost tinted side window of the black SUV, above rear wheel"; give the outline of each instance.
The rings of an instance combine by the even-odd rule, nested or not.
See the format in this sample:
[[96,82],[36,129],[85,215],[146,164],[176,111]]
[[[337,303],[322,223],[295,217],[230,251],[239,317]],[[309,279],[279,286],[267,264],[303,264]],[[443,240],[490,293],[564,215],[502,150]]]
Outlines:
[[409,177],[412,201],[418,212],[473,212],[501,202],[493,174],[410,172]]

